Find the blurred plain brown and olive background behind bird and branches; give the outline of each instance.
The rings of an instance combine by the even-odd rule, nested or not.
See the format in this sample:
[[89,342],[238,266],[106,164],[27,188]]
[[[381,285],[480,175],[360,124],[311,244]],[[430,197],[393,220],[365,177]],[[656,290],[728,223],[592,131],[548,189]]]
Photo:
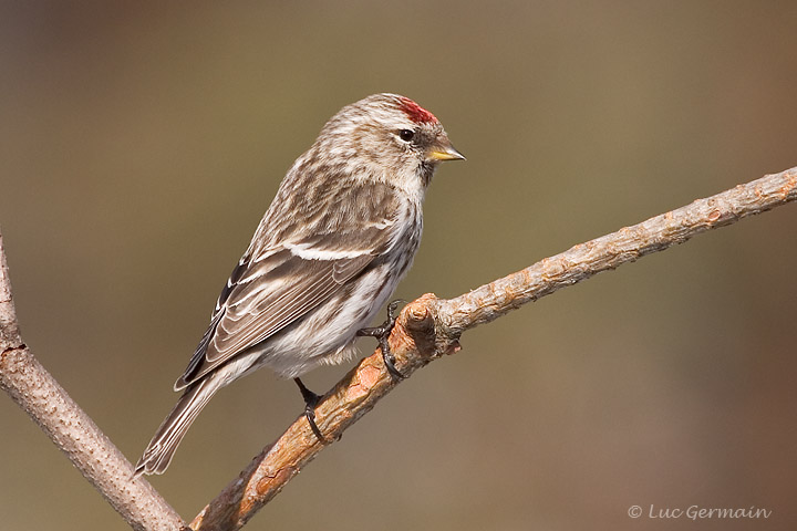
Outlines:
[[[132,460],[286,169],[368,94],[468,157],[405,299],[797,165],[790,1],[72,3],[1,8],[0,225],[27,343]],[[795,228],[784,207],[469,332],[247,529],[795,529]],[[193,518],[301,408],[237,383],[153,483]],[[0,424],[3,529],[125,529],[7,398]]]

